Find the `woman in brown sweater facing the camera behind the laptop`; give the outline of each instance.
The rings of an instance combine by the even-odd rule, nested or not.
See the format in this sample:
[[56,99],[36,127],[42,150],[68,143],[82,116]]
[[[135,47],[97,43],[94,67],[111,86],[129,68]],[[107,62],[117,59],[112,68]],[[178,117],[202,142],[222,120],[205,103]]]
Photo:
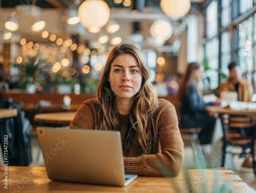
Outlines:
[[127,174],[163,176],[160,161],[177,176],[184,161],[184,144],[176,111],[170,102],[157,99],[149,77],[137,47],[115,47],[106,61],[96,99],[83,102],[70,128],[119,131]]

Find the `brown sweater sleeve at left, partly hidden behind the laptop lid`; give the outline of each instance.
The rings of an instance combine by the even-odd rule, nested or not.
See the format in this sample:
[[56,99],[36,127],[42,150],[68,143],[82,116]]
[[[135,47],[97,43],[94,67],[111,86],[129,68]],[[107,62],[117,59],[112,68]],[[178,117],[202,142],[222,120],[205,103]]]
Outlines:
[[70,128],[83,128],[94,129],[95,122],[95,110],[90,101],[85,101],[81,104],[80,108],[76,112],[74,119],[70,123]]

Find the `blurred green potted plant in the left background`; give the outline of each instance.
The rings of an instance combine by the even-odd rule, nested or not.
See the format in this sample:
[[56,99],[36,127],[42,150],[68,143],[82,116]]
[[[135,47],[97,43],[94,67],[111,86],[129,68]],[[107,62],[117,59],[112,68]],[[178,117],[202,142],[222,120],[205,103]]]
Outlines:
[[13,64],[20,71],[21,80],[19,86],[22,91],[26,89],[27,93],[36,92],[37,86],[44,81],[44,79],[40,78],[40,74],[49,72],[51,68],[50,63],[47,60],[39,59],[38,55],[28,56],[21,63],[16,62]]

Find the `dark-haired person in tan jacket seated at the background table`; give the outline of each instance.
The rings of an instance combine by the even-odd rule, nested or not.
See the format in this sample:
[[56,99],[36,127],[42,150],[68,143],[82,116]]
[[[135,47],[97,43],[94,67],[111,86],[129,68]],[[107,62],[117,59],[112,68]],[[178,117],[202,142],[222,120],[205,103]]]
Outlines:
[[220,83],[218,89],[218,97],[222,91],[236,91],[238,93],[238,100],[251,102],[252,96],[250,91],[249,82],[241,78],[241,70],[236,62],[230,62],[228,65],[229,78],[228,80]]

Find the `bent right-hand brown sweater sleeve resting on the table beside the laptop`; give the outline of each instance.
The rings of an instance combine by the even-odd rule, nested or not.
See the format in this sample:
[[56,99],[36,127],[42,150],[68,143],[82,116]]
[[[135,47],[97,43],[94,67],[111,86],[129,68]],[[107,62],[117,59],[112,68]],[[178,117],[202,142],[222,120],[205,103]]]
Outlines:
[[163,176],[159,163],[164,163],[173,176],[178,176],[184,161],[184,144],[181,139],[178,119],[174,106],[166,102],[156,120],[156,143],[159,150],[156,154],[139,157],[124,157],[124,168],[127,174],[141,176]]

